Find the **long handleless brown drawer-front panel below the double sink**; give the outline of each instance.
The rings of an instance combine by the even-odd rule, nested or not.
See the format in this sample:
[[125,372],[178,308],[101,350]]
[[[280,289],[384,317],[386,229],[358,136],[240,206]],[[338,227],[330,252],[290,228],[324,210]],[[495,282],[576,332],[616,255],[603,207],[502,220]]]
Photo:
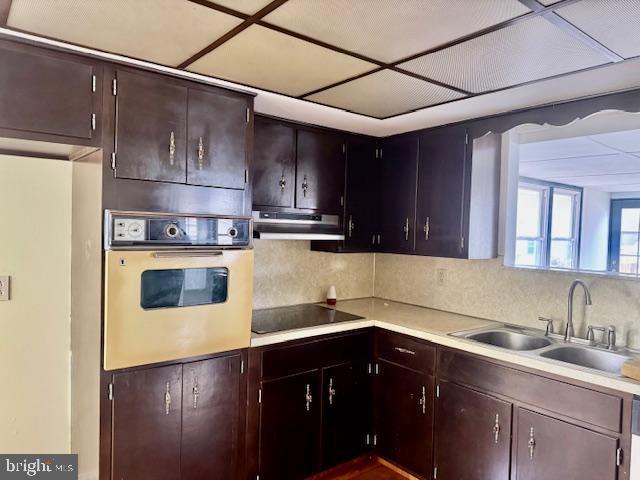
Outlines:
[[[613,432],[621,431],[622,397],[617,395],[497,365],[448,349],[439,351],[438,374]],[[577,405],[580,408],[576,408]]]

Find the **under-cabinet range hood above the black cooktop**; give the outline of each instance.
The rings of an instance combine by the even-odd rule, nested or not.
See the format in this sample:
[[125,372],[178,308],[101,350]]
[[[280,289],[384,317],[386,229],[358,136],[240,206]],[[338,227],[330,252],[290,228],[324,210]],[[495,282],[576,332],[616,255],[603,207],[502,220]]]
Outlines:
[[338,215],[253,212],[253,238],[263,240],[344,240]]

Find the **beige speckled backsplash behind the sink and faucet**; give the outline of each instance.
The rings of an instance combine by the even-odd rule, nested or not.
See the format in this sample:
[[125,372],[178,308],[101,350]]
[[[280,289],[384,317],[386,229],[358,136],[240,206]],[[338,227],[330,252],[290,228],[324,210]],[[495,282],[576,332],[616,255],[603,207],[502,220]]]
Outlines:
[[[444,269],[444,282],[438,270]],[[476,317],[543,328],[538,316],[555,320],[563,331],[567,294],[575,278],[589,286],[593,305],[575,295],[576,335],[586,326],[615,325],[618,344],[640,348],[640,281],[577,273],[506,268],[502,258],[453,260],[376,254],[375,296]]]

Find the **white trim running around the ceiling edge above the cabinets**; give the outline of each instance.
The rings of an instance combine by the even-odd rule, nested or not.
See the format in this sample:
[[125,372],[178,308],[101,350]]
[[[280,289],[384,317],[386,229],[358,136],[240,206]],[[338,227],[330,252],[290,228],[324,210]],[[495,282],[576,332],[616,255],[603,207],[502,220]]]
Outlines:
[[378,137],[640,87],[639,58],[380,120],[206,75],[132,59],[124,55],[16,32],[8,28],[0,28],[0,34],[210,85],[253,93],[256,95],[256,112]]

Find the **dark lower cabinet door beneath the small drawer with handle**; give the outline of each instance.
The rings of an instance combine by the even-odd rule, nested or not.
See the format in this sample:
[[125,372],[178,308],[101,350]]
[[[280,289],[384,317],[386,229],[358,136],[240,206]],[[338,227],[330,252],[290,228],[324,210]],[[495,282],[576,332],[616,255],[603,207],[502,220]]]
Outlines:
[[433,377],[384,360],[379,361],[379,366],[376,432],[380,455],[431,478]]

